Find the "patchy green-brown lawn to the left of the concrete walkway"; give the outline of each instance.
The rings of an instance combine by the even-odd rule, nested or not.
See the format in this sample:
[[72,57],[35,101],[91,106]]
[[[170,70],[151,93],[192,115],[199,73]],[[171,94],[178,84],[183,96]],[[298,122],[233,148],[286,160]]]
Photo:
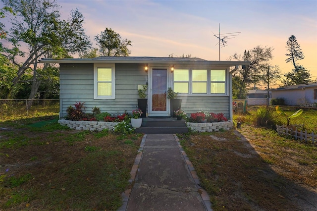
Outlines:
[[0,210],[117,210],[140,134],[74,131],[57,115],[1,120]]

